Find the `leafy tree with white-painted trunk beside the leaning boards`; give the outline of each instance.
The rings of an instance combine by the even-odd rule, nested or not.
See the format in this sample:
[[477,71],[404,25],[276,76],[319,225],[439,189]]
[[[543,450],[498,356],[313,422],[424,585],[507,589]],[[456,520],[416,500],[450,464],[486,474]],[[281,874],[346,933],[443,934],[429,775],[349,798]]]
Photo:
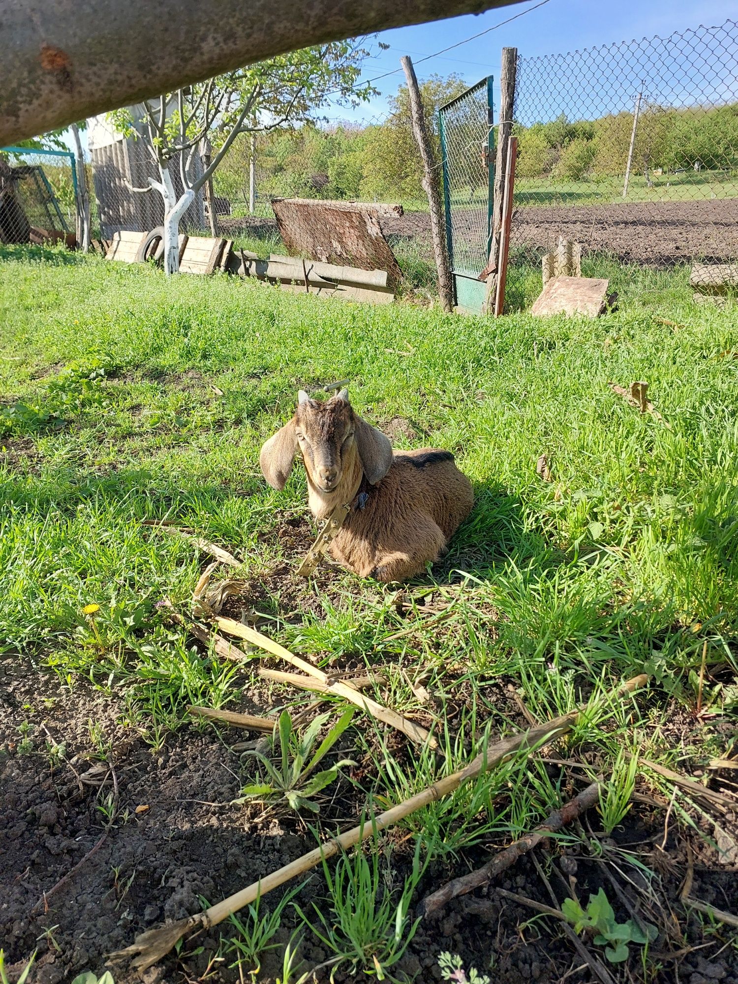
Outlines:
[[[149,179],[164,203],[164,269],[176,273],[179,221],[242,133],[264,133],[310,119],[329,98],[358,104],[374,92],[357,86],[368,52],[356,40],[332,41],[277,55],[185,90],[164,92],[144,102],[144,121],[137,130],[130,110],[111,114],[117,129],[138,134],[158,167],[160,181]],[[211,164],[193,174],[196,151],[209,138]],[[178,166],[183,188],[177,195],[171,167]]]

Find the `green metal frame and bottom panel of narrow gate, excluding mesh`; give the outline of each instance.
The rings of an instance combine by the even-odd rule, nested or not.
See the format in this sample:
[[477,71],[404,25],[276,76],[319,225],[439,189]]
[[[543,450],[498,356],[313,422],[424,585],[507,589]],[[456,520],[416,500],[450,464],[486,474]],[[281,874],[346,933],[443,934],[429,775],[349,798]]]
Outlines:
[[[441,164],[444,183],[444,212],[446,214],[446,245],[449,251],[449,263],[451,265],[451,278],[454,285],[454,304],[461,311],[473,314],[481,314],[484,306],[486,283],[479,279],[480,269],[474,274],[473,271],[457,269],[454,262],[454,229],[451,219],[451,195],[449,190],[449,158],[448,140],[446,134],[445,115],[449,109],[468,98],[473,92],[485,89],[487,92],[487,249],[486,257],[492,246],[492,205],[494,201],[495,187],[495,133],[494,133],[494,78],[489,75],[482,79],[475,86],[461,92],[455,99],[445,103],[438,111],[438,129],[441,137]],[[471,153],[471,151],[469,151]],[[484,261],[486,266],[486,259]],[[483,269],[483,268],[482,268]]]

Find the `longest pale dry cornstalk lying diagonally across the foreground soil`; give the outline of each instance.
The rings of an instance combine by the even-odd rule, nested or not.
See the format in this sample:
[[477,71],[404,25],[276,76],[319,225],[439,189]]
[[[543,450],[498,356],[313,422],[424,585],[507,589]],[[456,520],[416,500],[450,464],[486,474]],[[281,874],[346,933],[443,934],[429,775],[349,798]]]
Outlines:
[[[632,694],[634,691],[645,686],[647,681],[648,677],[646,674],[641,674],[632,680],[628,680],[617,691],[611,693],[609,697],[610,699],[615,699]],[[570,714],[565,714],[563,717],[557,717],[554,720],[548,721],[546,724],[542,724],[538,728],[530,728],[527,731],[503,738],[491,747],[485,748],[465,769],[460,769],[452,775],[447,775],[445,778],[439,779],[438,782],[434,782],[433,785],[416,793],[403,803],[399,803],[390,810],[386,810],[379,817],[375,817],[371,821],[360,824],[351,830],[346,830],[344,833],[339,834],[338,837],[332,837],[326,843],[309,851],[307,854],[303,854],[302,857],[297,858],[295,861],[284,865],[266,878],[254,882],[240,892],[229,895],[205,912],[199,912],[197,915],[190,916],[187,919],[180,919],[168,926],[148,930],[139,936],[136,942],[130,947],[117,953],[111,953],[111,957],[117,959],[131,957],[135,967],[138,967],[140,970],[146,970],[147,967],[153,966],[157,960],[160,960],[162,956],[169,953],[185,933],[200,928],[210,929],[222,922],[223,919],[227,919],[233,912],[237,912],[243,908],[244,905],[249,905],[257,896],[261,897],[267,892],[272,892],[273,889],[284,885],[285,882],[289,882],[298,875],[302,875],[304,872],[315,868],[324,858],[333,857],[334,854],[338,854],[338,851],[347,850],[367,837],[371,837],[375,831],[379,832],[380,830],[393,827],[404,817],[409,816],[416,810],[420,810],[422,807],[428,806],[429,803],[435,803],[436,800],[448,796],[458,789],[462,782],[476,778],[481,772],[496,769],[498,766],[507,762],[512,756],[523,751],[529,755],[542,744],[548,744],[554,739],[567,734],[575,726],[584,710],[586,710],[586,707],[582,707],[580,710],[574,710]]]

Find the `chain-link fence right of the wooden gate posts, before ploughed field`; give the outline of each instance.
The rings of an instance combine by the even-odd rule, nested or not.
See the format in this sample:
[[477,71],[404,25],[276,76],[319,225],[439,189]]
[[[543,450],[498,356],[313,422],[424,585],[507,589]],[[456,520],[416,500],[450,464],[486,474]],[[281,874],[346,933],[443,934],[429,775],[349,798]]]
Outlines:
[[519,59],[514,133],[514,280],[560,236],[592,276],[738,259],[735,22]]

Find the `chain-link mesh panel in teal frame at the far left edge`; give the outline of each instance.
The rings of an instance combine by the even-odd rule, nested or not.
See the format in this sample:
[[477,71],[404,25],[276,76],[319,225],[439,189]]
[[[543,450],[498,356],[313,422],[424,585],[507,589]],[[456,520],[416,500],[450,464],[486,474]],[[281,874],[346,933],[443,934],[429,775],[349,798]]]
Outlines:
[[73,236],[76,196],[72,154],[0,149],[0,242],[39,243]]

